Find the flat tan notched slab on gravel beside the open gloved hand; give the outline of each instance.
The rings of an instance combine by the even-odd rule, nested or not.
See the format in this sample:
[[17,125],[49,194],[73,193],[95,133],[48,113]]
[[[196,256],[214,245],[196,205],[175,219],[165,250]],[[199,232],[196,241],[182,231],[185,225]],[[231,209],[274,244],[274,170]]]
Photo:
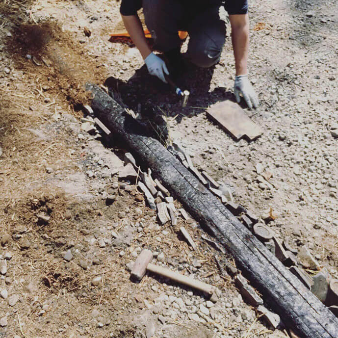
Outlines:
[[207,115],[236,140],[245,137],[252,141],[263,133],[238,104],[229,100],[213,104],[208,108]]

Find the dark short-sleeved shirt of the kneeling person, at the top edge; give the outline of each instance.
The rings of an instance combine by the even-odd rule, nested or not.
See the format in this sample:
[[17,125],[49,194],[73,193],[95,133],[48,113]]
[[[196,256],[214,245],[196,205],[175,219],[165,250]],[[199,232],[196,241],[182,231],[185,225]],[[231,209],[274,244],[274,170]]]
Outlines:
[[[180,1],[188,2],[187,0]],[[208,0],[195,0],[192,3],[196,4],[196,2],[203,3],[207,1]],[[122,15],[135,15],[141,7],[142,0],[122,0],[120,12]],[[248,0],[226,0],[224,7],[230,15],[246,14],[248,12]]]

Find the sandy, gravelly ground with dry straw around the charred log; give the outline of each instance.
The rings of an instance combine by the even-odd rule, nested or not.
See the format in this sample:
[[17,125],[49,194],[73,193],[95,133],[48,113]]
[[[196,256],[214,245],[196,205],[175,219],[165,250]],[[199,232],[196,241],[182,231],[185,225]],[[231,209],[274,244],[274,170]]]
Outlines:
[[[278,217],[268,226],[277,236],[307,245],[337,278],[338,2],[251,1],[249,68],[260,107],[246,113],[264,129],[251,143],[234,141],[205,113],[234,100],[230,39],[213,69],[187,66],[180,81],[191,97],[183,109],[147,74],[130,41],[108,41],[121,24],[118,7],[104,0],[0,1],[1,262],[7,258],[0,289],[8,293],[0,300],[0,334],[286,337],[242,301],[216,265],[213,256],[222,255],[194,222],[160,227],[134,185],[118,182],[125,149],[81,130],[79,104],[88,100],[86,81],[109,78],[148,123],[164,117],[168,139],[226,183],[236,202],[260,216],[272,208]],[[258,163],[271,185],[259,181]],[[107,195],[115,202],[107,204]],[[180,237],[182,225],[198,253]],[[131,283],[127,264],[143,248],[158,253],[158,264],[217,286],[219,300],[211,305],[156,276]]]

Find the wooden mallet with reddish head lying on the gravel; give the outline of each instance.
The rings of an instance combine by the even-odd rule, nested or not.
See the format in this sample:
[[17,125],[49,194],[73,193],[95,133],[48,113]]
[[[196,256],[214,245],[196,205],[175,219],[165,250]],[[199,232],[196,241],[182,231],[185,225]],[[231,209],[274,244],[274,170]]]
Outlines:
[[148,270],[150,272],[156,273],[157,275],[167,277],[175,282],[206,292],[209,295],[212,295],[215,292],[215,286],[200,282],[191,277],[184,276],[179,272],[172,271],[162,266],[152,264],[152,258],[153,253],[150,250],[143,250],[132,266],[130,277],[140,281]]

